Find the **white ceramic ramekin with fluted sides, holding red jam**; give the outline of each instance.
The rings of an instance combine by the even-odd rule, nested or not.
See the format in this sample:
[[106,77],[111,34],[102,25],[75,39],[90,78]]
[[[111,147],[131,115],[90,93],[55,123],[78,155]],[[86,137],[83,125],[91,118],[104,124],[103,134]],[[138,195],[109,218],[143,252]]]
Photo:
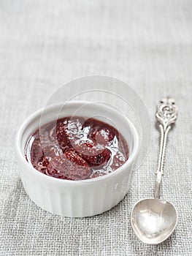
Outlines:
[[[126,116],[104,104],[91,103],[82,108],[86,103],[69,102],[64,110],[61,110],[64,103],[51,105],[46,110],[38,110],[21,125],[15,140],[20,177],[26,193],[37,206],[65,217],[93,216],[117,205],[128,192],[132,167],[139,151],[137,131]],[[113,122],[112,125],[115,124],[126,138],[130,156],[118,170],[98,178],[68,181],[46,176],[26,161],[24,155],[26,141],[31,133],[39,128],[40,120],[42,120],[41,124],[46,124],[58,117],[72,116],[76,110],[79,116],[97,116],[98,119],[99,116],[105,117],[101,120],[109,124]]]

